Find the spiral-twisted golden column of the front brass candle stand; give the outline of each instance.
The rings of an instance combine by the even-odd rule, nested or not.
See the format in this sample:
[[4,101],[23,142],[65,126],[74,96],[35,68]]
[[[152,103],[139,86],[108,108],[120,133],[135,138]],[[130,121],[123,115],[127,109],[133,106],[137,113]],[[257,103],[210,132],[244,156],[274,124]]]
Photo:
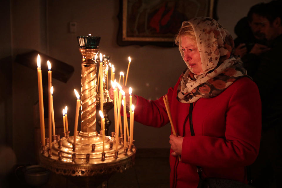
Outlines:
[[96,132],[97,63],[93,60],[99,49],[80,49],[84,56],[81,65],[81,132]]

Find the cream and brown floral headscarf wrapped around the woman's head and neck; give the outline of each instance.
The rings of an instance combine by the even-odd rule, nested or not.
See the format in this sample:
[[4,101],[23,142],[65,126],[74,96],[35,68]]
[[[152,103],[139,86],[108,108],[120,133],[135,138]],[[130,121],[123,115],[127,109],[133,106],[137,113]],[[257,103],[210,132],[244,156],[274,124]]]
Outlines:
[[[204,73],[194,74],[185,61],[189,69],[182,73],[177,88],[177,100],[181,103],[215,97],[237,79],[247,76],[241,59],[233,56],[234,41],[223,26],[208,17],[197,17],[183,24],[187,22],[194,29]],[[181,41],[179,51],[184,60],[180,46]]]

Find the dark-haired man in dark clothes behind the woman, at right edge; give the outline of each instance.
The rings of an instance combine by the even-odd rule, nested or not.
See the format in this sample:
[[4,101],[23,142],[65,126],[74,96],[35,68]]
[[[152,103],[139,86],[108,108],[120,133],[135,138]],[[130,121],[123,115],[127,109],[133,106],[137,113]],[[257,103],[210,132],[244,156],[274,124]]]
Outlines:
[[[252,23],[266,45],[254,45],[242,57],[248,75],[258,85],[262,102],[262,135],[259,155],[251,166],[256,187],[278,187],[282,171],[282,25],[281,1],[271,1],[254,13]],[[252,24],[250,24],[252,25]]]

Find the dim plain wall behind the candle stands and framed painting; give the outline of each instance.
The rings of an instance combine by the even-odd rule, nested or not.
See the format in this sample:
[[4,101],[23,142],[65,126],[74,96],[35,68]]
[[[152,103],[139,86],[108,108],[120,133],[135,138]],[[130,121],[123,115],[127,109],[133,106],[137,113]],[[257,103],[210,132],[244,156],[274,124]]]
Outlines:
[[[268,1],[219,0],[217,8],[219,22],[234,36],[233,30],[237,21],[246,16],[252,5],[259,2]],[[81,55],[76,36],[85,36],[88,33],[101,36],[100,51],[111,56],[117,73],[126,71],[127,57],[130,56],[132,63],[128,86],[133,88],[135,94],[147,99],[155,100],[164,95],[169,87],[174,86],[185,69],[177,48],[150,45],[118,46],[116,44],[118,12],[117,0],[1,1],[0,20],[5,27],[0,31],[0,59],[10,56],[11,61],[19,53],[38,50],[75,68],[75,73],[68,83],[52,80],[56,125],[62,124],[61,110],[68,105],[70,130],[73,132],[75,113],[73,89],[80,88],[81,70]],[[74,34],[68,33],[70,21],[77,22],[77,32]],[[36,66],[36,60],[34,63]],[[1,141],[13,143],[18,162],[33,162],[36,152],[31,150],[34,144],[33,104],[38,100],[36,71],[13,63],[10,67],[1,67],[0,76]],[[6,93],[2,88],[7,88]],[[113,120],[112,111],[110,119]],[[5,124],[5,128],[2,124]],[[9,129],[6,129],[7,127]],[[113,125],[110,128],[113,130]],[[138,148],[169,147],[169,125],[152,128],[135,122],[134,130]]]

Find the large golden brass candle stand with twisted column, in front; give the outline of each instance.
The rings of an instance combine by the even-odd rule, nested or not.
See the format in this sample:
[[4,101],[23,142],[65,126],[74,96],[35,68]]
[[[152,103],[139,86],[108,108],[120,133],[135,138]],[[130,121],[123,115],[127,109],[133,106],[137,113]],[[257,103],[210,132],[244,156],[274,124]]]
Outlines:
[[[100,108],[100,95],[97,96],[97,62],[95,54],[100,37],[78,37],[80,52],[83,55],[81,63],[81,131],[76,137],[56,137],[49,148],[48,142],[41,147],[40,161],[47,169],[69,177],[80,187],[95,187],[106,181],[113,173],[122,172],[133,166],[136,148],[124,147],[122,139],[105,134],[103,152],[102,135],[96,131],[96,105]],[[105,60],[105,66],[108,61]],[[103,66],[104,70],[104,66]],[[104,74],[104,71],[103,71]],[[106,77],[106,70],[105,76]],[[106,83],[106,82],[105,82]],[[103,85],[103,107],[105,117],[113,108],[113,100],[109,97],[106,84]],[[108,121],[108,122],[107,122]],[[110,120],[107,122],[110,124]],[[119,139],[117,150],[115,139]],[[48,139],[47,139],[48,140]]]

